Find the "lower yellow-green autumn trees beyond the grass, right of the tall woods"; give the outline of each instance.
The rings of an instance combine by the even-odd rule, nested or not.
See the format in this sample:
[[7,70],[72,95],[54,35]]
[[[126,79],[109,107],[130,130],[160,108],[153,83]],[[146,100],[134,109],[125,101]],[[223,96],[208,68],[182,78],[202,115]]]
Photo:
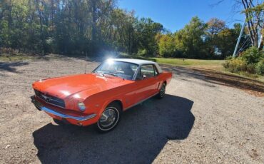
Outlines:
[[[196,16],[183,29],[157,36],[159,54],[164,57],[225,58],[233,53],[240,30],[240,24],[228,28],[220,19],[213,18],[204,23]],[[244,33],[241,43],[247,37]]]

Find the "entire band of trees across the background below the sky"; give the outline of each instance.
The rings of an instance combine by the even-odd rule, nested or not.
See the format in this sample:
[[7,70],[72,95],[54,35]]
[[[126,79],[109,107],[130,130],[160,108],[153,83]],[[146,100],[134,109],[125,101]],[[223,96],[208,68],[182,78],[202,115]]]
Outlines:
[[[24,53],[88,54],[103,51],[182,58],[225,58],[240,24],[228,28],[197,16],[171,33],[150,18],[118,8],[115,0],[1,0],[0,48]],[[246,31],[243,41],[249,36]],[[240,45],[246,48],[250,45]]]

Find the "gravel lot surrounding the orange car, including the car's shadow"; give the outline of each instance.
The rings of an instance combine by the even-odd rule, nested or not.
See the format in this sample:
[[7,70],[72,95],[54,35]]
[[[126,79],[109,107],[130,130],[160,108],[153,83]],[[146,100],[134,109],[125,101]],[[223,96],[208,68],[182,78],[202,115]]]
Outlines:
[[31,83],[84,66],[78,58],[0,62],[0,163],[264,163],[264,98],[189,68],[162,66],[173,71],[166,97],[126,111],[110,133],[56,125],[31,104]]

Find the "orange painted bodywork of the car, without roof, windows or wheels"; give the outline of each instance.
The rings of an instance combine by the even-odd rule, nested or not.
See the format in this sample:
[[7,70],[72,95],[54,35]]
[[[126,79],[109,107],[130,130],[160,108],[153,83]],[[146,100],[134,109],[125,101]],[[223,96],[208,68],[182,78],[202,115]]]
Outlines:
[[[71,116],[88,116],[96,113],[96,117],[87,121],[64,118],[68,123],[85,126],[96,123],[106,106],[113,101],[119,101],[125,111],[138,102],[156,95],[161,84],[164,82],[168,84],[171,77],[171,73],[163,71],[153,78],[131,81],[115,76],[99,76],[96,73],[89,73],[36,81],[33,83],[33,88],[64,100],[66,108],[59,108],[35,96],[37,101],[54,111]],[[86,111],[79,111],[78,102],[85,104]],[[52,118],[62,119],[51,113],[47,114]]]

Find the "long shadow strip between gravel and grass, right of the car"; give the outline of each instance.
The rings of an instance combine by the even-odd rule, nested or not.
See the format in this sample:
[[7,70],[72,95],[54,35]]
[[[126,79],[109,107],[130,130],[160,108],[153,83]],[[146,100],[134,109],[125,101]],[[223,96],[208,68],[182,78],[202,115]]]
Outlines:
[[191,76],[193,78],[198,78],[200,80],[207,81],[209,83],[219,84],[223,86],[231,86],[243,90],[260,92],[259,95],[261,95],[261,93],[264,93],[264,83],[259,81],[254,81],[249,78],[228,75],[225,73],[212,71],[208,69],[182,68],[182,67],[168,66],[168,65],[162,65],[162,68],[165,71],[172,71],[173,73],[176,73],[176,75],[180,76],[179,78]]

